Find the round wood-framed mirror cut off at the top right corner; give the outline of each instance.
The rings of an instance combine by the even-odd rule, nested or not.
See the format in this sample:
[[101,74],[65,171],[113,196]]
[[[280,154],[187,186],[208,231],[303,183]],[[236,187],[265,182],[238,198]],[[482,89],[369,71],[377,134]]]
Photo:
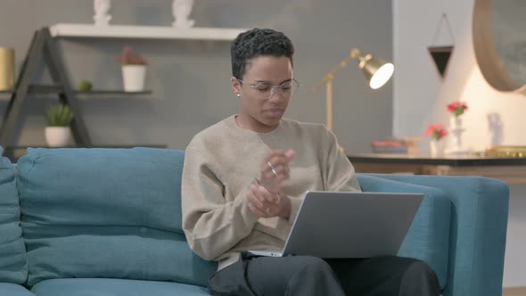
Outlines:
[[499,91],[526,94],[525,14],[524,0],[475,0],[475,56],[484,78]]

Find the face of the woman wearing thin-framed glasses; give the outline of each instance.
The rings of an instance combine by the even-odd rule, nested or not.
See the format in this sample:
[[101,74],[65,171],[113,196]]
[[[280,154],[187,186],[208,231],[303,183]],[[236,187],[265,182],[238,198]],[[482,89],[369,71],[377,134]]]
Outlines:
[[[240,95],[241,113],[237,120],[243,128],[265,133],[279,124],[291,99],[273,86],[290,86],[292,64],[287,57],[259,56],[247,62],[242,82],[232,78],[234,93]],[[254,87],[251,87],[254,86]],[[270,97],[266,98],[269,94]]]

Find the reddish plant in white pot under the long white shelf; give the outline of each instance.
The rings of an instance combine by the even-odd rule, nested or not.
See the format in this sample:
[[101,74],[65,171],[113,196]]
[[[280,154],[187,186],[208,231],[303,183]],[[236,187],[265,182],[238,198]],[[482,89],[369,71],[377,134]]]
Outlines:
[[117,61],[122,65],[124,91],[143,91],[146,78],[146,61],[144,58],[134,53],[130,46],[124,46],[122,53],[117,57]]

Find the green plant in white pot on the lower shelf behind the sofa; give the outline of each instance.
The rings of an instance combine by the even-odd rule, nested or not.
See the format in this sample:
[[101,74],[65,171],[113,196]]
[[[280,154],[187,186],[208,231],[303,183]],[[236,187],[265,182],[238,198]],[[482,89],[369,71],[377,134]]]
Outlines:
[[47,127],[45,127],[45,142],[50,147],[63,147],[70,143],[70,123],[73,112],[66,104],[56,104],[47,108],[45,113]]

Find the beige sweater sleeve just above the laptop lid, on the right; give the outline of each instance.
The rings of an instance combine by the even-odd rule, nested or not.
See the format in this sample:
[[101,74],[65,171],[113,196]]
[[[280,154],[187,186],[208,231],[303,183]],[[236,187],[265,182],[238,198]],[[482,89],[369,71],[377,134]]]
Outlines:
[[325,190],[360,192],[360,185],[354,167],[340,148],[336,136],[329,129],[327,133],[328,155],[326,158]]

